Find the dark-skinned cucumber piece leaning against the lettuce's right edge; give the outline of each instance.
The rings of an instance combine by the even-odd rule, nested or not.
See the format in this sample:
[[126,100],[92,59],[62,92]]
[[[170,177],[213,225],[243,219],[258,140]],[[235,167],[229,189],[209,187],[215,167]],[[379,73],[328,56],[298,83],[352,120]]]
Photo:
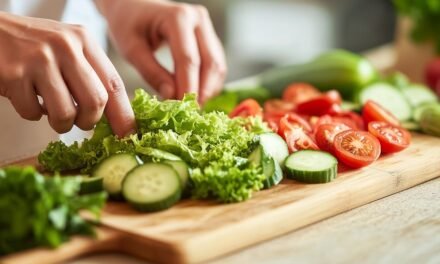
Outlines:
[[265,152],[263,146],[258,146],[251,155],[249,155],[249,161],[263,168],[263,174],[266,176],[263,182],[264,189],[279,184],[283,179],[283,171],[280,164]]

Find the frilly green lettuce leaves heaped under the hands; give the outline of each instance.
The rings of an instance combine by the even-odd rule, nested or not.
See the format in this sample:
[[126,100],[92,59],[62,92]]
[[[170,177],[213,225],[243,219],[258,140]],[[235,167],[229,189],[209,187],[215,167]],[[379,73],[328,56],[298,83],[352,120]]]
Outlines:
[[264,175],[246,158],[257,145],[258,134],[269,129],[260,118],[230,119],[222,112],[204,113],[196,99],[189,94],[181,101],[159,101],[138,89],[132,107],[139,136],[118,139],[102,120],[94,136],[81,146],[51,143],[39,161],[49,170],[87,173],[111,154],[135,153],[151,160],[152,149],[159,149],[181,157],[193,169],[193,197],[223,202],[248,199],[263,187]]

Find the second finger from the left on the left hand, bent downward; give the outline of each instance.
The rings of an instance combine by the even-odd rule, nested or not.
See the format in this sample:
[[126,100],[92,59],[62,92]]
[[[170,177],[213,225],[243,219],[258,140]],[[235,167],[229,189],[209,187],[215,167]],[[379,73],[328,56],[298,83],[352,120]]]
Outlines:
[[43,98],[50,126],[60,134],[70,131],[75,122],[76,107],[56,65],[41,67],[34,85]]

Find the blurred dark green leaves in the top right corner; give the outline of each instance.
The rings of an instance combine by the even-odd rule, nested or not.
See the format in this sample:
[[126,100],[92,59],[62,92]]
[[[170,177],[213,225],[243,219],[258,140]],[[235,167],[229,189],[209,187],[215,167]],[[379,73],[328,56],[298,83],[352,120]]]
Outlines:
[[440,1],[393,0],[397,10],[411,18],[411,37],[417,41],[433,41],[440,53]]

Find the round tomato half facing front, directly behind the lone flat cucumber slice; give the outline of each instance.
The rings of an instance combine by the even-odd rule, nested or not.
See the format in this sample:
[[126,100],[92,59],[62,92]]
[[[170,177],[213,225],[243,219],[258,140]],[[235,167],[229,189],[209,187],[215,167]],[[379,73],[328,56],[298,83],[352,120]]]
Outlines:
[[340,132],[335,136],[333,147],[336,157],[352,168],[367,166],[380,155],[379,140],[366,131]]

